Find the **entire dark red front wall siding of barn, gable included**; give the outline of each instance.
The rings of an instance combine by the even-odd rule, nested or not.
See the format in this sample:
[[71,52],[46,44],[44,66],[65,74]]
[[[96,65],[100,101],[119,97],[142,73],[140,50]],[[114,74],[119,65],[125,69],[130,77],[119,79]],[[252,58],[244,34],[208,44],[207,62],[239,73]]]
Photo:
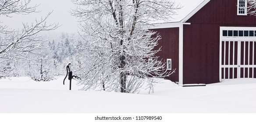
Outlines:
[[191,25],[184,25],[183,84],[219,82],[221,26],[256,27],[256,17],[238,16],[236,5],[237,0],[210,0],[187,20]]

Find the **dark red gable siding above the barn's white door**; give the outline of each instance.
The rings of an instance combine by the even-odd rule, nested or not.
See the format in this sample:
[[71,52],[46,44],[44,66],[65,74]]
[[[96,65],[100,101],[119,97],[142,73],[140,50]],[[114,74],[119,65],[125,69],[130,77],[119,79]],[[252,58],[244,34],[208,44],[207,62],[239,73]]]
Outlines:
[[237,0],[210,0],[201,10],[194,14],[187,22],[192,24],[230,24],[237,26],[255,25],[255,16],[237,15]]

